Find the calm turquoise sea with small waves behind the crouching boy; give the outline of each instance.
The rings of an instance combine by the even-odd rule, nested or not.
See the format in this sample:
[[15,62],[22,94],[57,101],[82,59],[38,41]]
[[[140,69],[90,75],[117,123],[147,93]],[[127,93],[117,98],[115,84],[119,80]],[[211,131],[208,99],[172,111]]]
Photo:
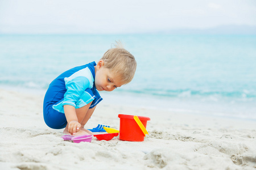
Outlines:
[[44,94],[115,41],[137,71],[102,103],[256,121],[256,35],[0,35],[0,88]]

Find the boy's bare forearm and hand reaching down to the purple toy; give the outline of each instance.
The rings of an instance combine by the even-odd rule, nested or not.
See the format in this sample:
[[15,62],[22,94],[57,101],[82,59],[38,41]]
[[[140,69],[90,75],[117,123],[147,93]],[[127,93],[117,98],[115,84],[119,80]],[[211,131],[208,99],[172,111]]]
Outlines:
[[63,105],[66,119],[68,121],[68,132],[71,135],[75,135],[76,131],[79,131],[81,124],[79,124],[76,109],[72,105]]

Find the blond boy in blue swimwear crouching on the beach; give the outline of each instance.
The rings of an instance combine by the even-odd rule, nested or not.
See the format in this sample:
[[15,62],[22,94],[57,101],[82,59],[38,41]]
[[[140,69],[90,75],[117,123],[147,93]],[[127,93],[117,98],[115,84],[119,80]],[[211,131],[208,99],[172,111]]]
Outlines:
[[92,134],[84,125],[102,100],[98,91],[113,91],[129,83],[137,62],[120,43],[98,61],[78,66],[59,75],[49,84],[44,97],[44,121],[53,129],[71,135]]

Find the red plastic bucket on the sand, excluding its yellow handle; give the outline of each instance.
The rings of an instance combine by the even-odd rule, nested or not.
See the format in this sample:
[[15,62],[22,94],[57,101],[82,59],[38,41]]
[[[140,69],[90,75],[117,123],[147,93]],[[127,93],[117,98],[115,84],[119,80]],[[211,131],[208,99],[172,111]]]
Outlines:
[[[122,141],[133,141],[133,142],[142,142],[144,141],[144,133],[139,128],[139,125],[134,120],[133,115],[127,114],[118,114],[120,118],[120,128],[119,128],[119,139]],[[147,121],[150,120],[149,117],[138,116],[142,124],[146,128]]]

